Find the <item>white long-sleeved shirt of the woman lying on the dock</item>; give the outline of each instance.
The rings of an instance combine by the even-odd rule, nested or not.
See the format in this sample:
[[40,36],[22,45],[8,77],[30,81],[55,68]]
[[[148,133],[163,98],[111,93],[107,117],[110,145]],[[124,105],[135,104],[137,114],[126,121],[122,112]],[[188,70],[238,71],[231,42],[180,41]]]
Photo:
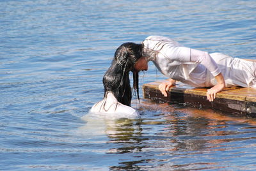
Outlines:
[[148,36],[143,41],[143,53],[166,77],[195,87],[205,87],[206,69],[214,77],[220,73],[207,52],[184,47],[163,36]]

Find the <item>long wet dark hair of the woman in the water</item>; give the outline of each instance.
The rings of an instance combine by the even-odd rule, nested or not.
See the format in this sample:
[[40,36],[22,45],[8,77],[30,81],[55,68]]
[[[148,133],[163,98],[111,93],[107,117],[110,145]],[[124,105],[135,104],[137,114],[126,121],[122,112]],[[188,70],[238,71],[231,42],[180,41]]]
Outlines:
[[134,64],[142,56],[142,45],[136,43],[124,43],[116,49],[115,57],[103,77],[104,98],[108,92],[112,92],[115,98],[122,104],[131,106],[132,90],[129,72],[132,71],[133,89],[139,97],[139,73],[134,70]]

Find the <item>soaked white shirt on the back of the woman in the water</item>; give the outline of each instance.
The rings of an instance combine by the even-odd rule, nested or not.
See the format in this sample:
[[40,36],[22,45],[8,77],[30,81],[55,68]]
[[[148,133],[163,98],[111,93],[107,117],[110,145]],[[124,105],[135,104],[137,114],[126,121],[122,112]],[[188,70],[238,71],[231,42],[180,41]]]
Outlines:
[[93,105],[90,112],[113,118],[136,118],[140,116],[134,108],[118,102],[114,94],[111,92],[108,92],[106,98],[102,101]]

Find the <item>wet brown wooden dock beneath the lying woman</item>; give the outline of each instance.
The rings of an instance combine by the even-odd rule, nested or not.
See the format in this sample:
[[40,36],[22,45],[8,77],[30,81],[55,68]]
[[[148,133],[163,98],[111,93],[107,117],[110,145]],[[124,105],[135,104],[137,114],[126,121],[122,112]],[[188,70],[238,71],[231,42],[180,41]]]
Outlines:
[[161,82],[143,84],[143,96],[150,100],[182,103],[189,107],[212,108],[227,114],[256,117],[256,89],[244,87],[225,88],[212,102],[207,100],[207,88],[194,88],[177,83],[164,97],[158,89]]

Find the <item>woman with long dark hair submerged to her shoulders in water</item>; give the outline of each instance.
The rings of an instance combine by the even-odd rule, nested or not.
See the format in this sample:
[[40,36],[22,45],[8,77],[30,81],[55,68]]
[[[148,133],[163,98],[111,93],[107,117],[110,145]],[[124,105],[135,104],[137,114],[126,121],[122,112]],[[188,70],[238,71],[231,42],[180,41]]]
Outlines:
[[[91,112],[118,113],[122,117],[139,116],[138,112],[131,107],[132,92],[129,72],[132,72],[133,88],[140,100],[138,72],[147,70],[147,66],[138,66],[138,61],[141,59],[141,47],[136,43],[124,43],[116,49],[111,66],[103,77],[104,98],[93,105]],[[134,68],[140,68],[140,70],[135,70]]]

